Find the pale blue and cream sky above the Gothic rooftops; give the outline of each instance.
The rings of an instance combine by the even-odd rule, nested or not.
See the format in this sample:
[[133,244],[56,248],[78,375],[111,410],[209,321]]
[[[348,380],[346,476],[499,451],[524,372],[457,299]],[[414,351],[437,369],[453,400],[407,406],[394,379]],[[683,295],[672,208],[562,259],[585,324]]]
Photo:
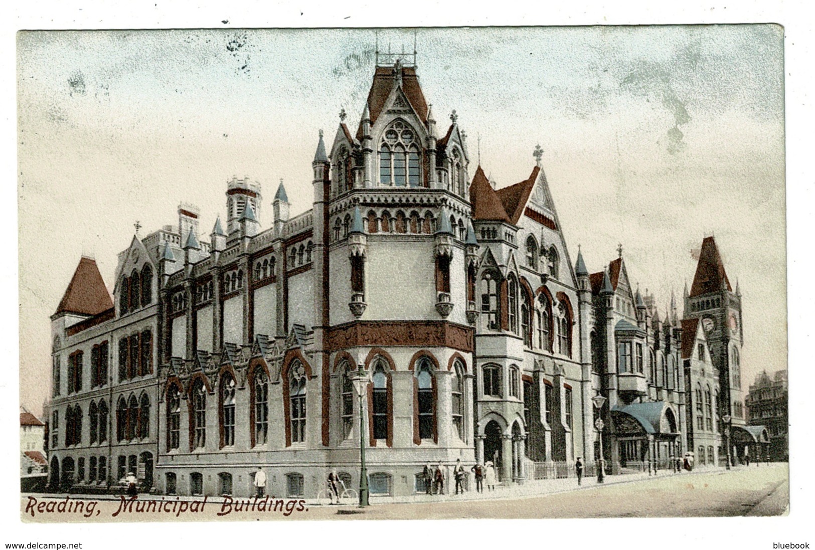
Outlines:
[[[412,50],[412,31],[379,33]],[[418,72],[440,127],[456,109],[500,187],[536,144],[571,256],[600,271],[623,244],[663,309],[714,233],[744,294],[745,381],[786,366],[782,31],[770,25],[420,29]],[[199,205],[204,233],[233,174],[284,178],[310,208],[317,132],[359,121],[372,30],[21,33],[20,327],[24,402],[45,392],[49,321],[81,253],[108,287],[116,254]],[[328,143],[330,147],[330,143]],[[61,253],[55,255],[54,249]],[[33,378],[32,378],[33,379]]]

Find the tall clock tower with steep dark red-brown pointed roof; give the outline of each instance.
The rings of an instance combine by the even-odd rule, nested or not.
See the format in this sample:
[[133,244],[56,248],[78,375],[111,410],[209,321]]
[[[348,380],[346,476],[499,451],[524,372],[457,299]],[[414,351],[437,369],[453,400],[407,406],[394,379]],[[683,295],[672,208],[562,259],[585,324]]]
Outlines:
[[741,356],[742,295],[734,292],[716,240],[705,237],[690,292],[685,288],[685,319],[698,319],[707,339],[713,367],[719,372],[718,415],[745,425]]

